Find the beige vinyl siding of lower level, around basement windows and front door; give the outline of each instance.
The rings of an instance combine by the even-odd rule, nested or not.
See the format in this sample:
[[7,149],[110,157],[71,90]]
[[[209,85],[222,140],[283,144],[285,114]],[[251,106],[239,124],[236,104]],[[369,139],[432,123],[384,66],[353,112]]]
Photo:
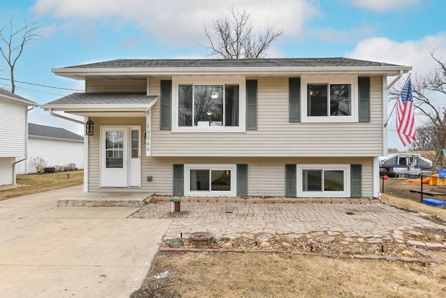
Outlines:
[[[103,120],[103,119],[102,119]],[[97,120],[95,120],[97,121]],[[102,121],[105,123],[107,121]],[[96,123],[96,122],[95,122]],[[135,123],[128,125],[137,125]],[[99,187],[99,135],[90,139],[89,191],[101,191]],[[144,146],[144,144],[143,144]],[[248,195],[284,196],[285,165],[295,164],[362,164],[362,195],[373,196],[373,158],[241,158],[241,157],[142,157],[141,188],[107,188],[107,191],[137,191],[151,195],[172,195],[173,165],[184,163],[247,163]],[[153,181],[148,182],[151,176]]]

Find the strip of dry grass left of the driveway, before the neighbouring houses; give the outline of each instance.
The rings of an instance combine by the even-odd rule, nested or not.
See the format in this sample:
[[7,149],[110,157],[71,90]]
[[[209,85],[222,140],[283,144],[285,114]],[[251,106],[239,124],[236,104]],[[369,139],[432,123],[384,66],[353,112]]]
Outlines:
[[84,171],[69,173],[70,179],[67,178],[67,172],[17,175],[17,184],[26,186],[0,191],[0,201],[84,183]]

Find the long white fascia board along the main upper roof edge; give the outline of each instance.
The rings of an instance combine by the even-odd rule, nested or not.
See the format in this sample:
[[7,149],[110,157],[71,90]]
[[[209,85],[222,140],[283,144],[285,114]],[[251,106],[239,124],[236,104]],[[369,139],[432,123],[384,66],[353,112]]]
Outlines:
[[399,75],[408,73],[410,66],[371,66],[371,67],[197,67],[197,68],[55,68],[52,72],[61,77],[84,80],[96,75],[296,75],[296,74],[356,74],[356,75]]

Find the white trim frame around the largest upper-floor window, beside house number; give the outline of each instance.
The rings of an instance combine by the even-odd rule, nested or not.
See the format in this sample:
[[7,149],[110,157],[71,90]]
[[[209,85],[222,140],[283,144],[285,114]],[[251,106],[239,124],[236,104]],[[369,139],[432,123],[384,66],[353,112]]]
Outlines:
[[[238,84],[238,126],[178,126],[178,86],[180,84]],[[245,133],[246,77],[172,77],[172,133]]]

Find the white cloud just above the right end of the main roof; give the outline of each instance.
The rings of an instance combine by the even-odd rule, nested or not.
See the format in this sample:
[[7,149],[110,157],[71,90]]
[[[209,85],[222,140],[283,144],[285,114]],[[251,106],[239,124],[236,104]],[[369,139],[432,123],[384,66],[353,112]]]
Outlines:
[[414,73],[422,74],[436,66],[430,55],[434,50],[436,57],[446,54],[446,31],[403,43],[384,37],[369,38],[358,43],[346,57],[413,66]]

